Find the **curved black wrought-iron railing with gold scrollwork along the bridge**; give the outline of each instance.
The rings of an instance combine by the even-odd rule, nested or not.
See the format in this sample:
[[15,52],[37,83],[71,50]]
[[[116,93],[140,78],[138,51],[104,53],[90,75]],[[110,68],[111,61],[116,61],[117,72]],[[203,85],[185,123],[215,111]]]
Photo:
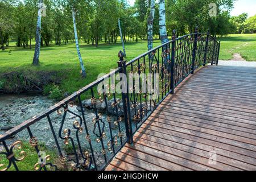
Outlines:
[[[5,150],[0,151],[0,170],[22,169],[19,164],[31,155],[22,148],[26,141],[37,155],[27,163],[34,163],[35,170],[104,169],[124,144],[133,143],[139,126],[185,77],[208,63],[218,64],[219,51],[220,42],[197,29],[179,38],[174,31],[170,42],[128,63],[120,51],[117,69],[0,135]],[[34,135],[38,122],[51,139]],[[45,141],[49,144],[42,147]],[[49,155],[52,151],[56,155]]]

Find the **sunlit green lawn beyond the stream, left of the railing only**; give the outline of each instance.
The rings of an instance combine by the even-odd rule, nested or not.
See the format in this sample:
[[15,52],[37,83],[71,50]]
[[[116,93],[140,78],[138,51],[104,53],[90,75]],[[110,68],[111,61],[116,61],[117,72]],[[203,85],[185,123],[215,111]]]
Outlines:
[[[156,40],[154,46],[160,44]],[[9,50],[12,50],[9,53]],[[86,78],[80,76],[80,64],[77,57],[75,44],[66,46],[42,47],[40,52],[40,65],[32,66],[34,49],[15,47],[15,43],[5,51],[0,51],[0,73],[17,70],[36,71],[61,71],[65,79],[61,82],[61,89],[73,93],[90,82],[96,80],[98,74],[109,73],[110,69],[117,68],[118,52],[122,50],[122,44],[100,44],[98,48],[80,44],[82,59],[87,72]],[[147,51],[147,42],[127,42],[127,60],[137,57]]]

